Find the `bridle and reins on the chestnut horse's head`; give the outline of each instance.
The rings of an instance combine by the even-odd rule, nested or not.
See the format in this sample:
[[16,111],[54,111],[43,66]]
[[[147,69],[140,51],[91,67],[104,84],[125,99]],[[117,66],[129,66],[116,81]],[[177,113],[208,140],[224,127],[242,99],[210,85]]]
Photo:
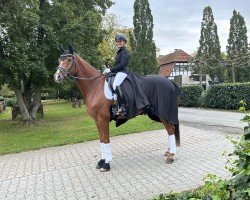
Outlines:
[[78,76],[72,75],[71,70],[73,68],[75,68],[75,70],[77,71],[77,66],[76,66],[76,61],[75,61],[75,54],[64,54],[64,55],[61,55],[59,59],[61,61],[64,61],[68,57],[73,58],[69,69],[66,69],[66,68],[64,68],[64,67],[62,67],[60,65],[57,67],[57,69],[62,73],[64,78],[73,78],[73,79],[80,79],[80,80],[93,80],[93,79],[96,79],[96,78],[99,78],[100,76],[102,76],[102,74],[99,74],[97,76],[93,76],[91,78],[88,78],[88,77],[78,77]]

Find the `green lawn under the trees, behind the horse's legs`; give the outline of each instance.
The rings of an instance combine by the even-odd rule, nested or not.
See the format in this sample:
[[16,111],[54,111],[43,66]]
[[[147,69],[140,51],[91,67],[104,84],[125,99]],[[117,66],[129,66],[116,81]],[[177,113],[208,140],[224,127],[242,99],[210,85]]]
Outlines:
[[[98,139],[94,121],[86,108],[72,108],[70,103],[44,102],[44,118],[38,114],[35,124],[11,120],[11,108],[0,114],[0,155],[32,149],[60,146]],[[110,123],[111,136],[125,135],[146,130],[163,129],[163,125],[139,116],[116,128]]]

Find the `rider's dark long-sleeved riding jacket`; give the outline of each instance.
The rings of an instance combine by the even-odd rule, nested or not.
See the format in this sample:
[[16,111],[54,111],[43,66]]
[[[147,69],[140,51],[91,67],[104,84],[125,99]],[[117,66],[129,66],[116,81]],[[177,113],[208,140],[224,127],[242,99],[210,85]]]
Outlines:
[[120,47],[115,57],[115,67],[111,68],[112,73],[126,72],[129,61],[129,53],[125,47]]

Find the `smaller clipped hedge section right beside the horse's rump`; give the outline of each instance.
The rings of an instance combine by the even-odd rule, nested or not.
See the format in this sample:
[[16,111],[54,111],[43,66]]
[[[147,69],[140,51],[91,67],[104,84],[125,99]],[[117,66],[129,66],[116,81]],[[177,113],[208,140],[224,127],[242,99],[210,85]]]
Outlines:
[[198,85],[182,86],[179,105],[185,107],[199,106],[199,98],[202,91],[202,87]]

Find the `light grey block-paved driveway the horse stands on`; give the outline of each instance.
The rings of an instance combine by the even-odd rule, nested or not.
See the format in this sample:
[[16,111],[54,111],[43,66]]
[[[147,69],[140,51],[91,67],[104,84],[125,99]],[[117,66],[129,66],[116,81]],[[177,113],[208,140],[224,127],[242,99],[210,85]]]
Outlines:
[[182,125],[172,165],[163,156],[166,138],[164,130],[113,137],[108,173],[95,169],[98,141],[0,156],[0,199],[151,199],[195,188],[208,173],[229,177],[224,133]]

